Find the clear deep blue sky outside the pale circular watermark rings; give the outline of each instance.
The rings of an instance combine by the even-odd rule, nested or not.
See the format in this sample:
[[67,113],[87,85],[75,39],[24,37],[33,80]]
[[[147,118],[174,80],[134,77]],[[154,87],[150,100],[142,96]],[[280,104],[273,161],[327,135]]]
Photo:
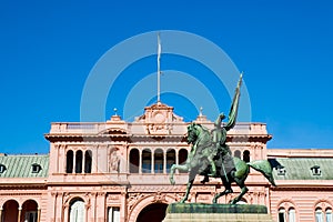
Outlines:
[[[0,152],[48,153],[43,133],[51,122],[80,121],[82,89],[101,56],[155,30],[206,38],[245,71],[252,121],[268,123],[269,148],[333,148],[330,0],[13,0],[0,3]],[[108,103],[108,117],[117,105]]]

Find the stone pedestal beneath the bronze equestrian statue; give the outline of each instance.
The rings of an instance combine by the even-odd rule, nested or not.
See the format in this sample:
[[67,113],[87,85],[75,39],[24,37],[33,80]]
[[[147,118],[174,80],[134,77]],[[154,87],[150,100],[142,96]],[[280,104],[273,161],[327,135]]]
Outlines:
[[171,203],[163,222],[274,222],[264,205]]

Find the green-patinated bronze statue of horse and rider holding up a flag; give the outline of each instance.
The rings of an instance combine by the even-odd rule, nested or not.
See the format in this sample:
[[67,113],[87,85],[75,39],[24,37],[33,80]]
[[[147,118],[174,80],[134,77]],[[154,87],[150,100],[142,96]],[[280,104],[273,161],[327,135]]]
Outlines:
[[275,185],[272,167],[268,160],[246,163],[239,158],[231,157],[230,148],[226,144],[226,132],[235,125],[241,84],[242,74],[235,89],[229,112],[229,121],[225,125],[222,125],[222,120],[225,115],[221,113],[214,123],[215,128],[212,132],[198,123],[191,123],[188,127],[188,143],[192,144],[191,152],[184,164],[173,164],[170,171],[171,184],[175,183],[173,174],[176,169],[189,171],[189,182],[185,195],[181,200],[182,203],[188,200],[196,174],[205,176],[202,181],[203,183],[209,181],[209,176],[222,180],[225,190],[215,194],[213,203],[216,203],[220,196],[233,192],[231,188],[233,182],[241,188],[241,193],[231,203],[235,204],[239,202],[249,190],[244,182],[250,173],[250,168],[261,172],[272,185]]

